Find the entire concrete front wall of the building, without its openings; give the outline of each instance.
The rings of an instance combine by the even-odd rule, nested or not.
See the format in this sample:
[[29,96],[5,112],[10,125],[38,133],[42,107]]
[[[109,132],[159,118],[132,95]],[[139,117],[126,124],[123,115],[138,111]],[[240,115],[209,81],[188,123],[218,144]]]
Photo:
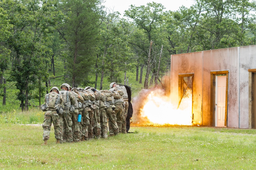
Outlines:
[[194,123],[210,126],[210,72],[229,71],[227,126],[248,128],[248,69],[256,69],[256,45],[172,55],[172,100],[178,100],[178,74],[194,73]]

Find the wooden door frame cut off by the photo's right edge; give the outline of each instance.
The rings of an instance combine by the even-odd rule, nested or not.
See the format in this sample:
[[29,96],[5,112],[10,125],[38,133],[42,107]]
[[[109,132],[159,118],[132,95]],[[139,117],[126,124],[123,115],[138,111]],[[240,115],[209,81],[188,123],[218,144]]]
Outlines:
[[[253,104],[253,83],[254,83],[254,76],[252,75],[253,73],[256,73],[256,69],[248,69],[248,72],[249,72],[249,120],[248,120],[248,123],[249,123],[249,129],[252,128],[252,119],[254,119],[254,104]],[[255,125],[254,125],[255,127]]]

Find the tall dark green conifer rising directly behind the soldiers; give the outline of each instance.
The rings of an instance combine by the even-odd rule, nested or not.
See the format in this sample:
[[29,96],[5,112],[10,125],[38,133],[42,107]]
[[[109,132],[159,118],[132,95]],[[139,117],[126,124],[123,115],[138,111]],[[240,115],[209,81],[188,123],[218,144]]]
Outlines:
[[101,0],[63,1],[65,21],[59,26],[59,33],[67,46],[67,73],[72,87],[88,79],[95,63],[96,38],[99,33]]

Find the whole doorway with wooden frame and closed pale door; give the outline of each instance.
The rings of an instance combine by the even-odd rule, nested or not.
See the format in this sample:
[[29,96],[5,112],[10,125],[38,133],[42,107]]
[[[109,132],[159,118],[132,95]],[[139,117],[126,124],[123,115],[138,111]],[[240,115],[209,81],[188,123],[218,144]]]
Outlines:
[[211,125],[227,126],[228,71],[211,72]]

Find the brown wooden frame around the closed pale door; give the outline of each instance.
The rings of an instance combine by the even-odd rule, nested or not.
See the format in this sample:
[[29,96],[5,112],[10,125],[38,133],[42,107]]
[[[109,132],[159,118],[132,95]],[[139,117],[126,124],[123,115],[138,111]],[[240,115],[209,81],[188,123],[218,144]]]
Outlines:
[[226,101],[225,101],[225,125],[227,126],[227,115],[228,115],[228,73],[229,71],[211,71],[211,100],[210,100],[210,115],[211,115],[211,126],[215,127],[215,89],[216,89],[216,75],[226,74]]

